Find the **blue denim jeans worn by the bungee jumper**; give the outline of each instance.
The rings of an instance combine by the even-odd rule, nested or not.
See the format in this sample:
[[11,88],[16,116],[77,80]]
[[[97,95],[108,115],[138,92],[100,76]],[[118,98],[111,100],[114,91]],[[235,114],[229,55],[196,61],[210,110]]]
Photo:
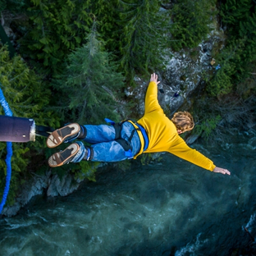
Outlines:
[[[84,141],[91,144],[91,148],[94,150],[94,162],[118,162],[128,159],[125,153],[125,149],[122,148],[115,140],[115,129],[113,126],[100,125],[100,126],[85,126],[87,130],[87,135]],[[130,138],[132,130],[135,130],[135,127],[128,121],[122,124],[121,129],[121,138],[128,139]],[[86,153],[85,145],[79,141],[76,142],[80,144],[80,151],[76,153],[75,158],[71,162],[80,162]],[[138,133],[135,131],[131,139],[132,155],[135,156],[136,153],[139,153],[141,144]]]

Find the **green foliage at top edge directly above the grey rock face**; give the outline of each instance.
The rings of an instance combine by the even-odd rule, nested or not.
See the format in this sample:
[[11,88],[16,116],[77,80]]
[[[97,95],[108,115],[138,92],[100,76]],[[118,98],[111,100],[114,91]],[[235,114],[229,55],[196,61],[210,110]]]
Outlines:
[[213,7],[216,1],[178,0],[171,10],[171,48],[194,48],[210,32],[209,24],[215,15]]

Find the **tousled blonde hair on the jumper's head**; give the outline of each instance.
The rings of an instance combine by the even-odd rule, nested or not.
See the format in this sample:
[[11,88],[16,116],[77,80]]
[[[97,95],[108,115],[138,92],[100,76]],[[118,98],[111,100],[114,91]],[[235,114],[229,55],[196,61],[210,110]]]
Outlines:
[[171,118],[177,130],[185,132],[194,128],[194,120],[190,112],[176,112]]

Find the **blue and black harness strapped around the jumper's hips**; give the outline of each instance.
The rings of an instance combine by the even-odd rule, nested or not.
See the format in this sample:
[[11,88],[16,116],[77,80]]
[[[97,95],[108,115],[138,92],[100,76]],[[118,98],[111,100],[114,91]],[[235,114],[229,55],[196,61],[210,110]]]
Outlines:
[[[133,122],[133,124],[135,124],[135,126],[138,126],[139,128],[135,128],[134,130],[132,130],[131,132],[131,135],[130,135],[130,138],[128,139],[128,141],[126,139],[123,139],[121,138],[121,126],[122,124],[125,122],[125,121],[128,121],[128,120],[125,120],[125,121],[121,121],[119,123],[116,123],[108,118],[105,118],[105,121],[107,123],[110,123],[112,126],[114,126],[115,128],[115,131],[116,131],[116,137],[115,137],[115,140],[121,144],[122,148],[125,149],[125,155],[128,159],[130,158],[134,158],[134,155],[132,153],[132,147],[131,147],[131,139],[133,137],[133,135],[135,134],[135,131],[138,131],[140,130],[142,135],[143,135],[143,138],[144,138],[144,149],[143,151],[147,150],[148,147],[149,147],[149,137],[147,135],[147,132],[146,130],[144,129],[143,126],[140,126],[137,122]],[[130,121],[130,120],[129,120]]]

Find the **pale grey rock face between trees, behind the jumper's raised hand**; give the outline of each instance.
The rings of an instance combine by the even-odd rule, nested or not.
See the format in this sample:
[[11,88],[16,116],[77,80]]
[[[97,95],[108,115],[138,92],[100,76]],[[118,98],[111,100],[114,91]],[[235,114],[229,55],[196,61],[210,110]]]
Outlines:
[[[190,94],[196,92],[202,84],[203,72],[214,72],[217,66],[217,63],[211,65],[213,48],[222,48],[224,41],[223,31],[215,29],[197,48],[182,49],[177,53],[167,50],[165,71],[155,71],[161,81],[158,85],[158,101],[164,109],[173,114],[183,103],[188,103],[190,107]],[[135,89],[127,88],[126,96],[137,100],[137,111],[143,115],[144,94],[149,81],[135,77],[135,83],[138,86]],[[179,96],[174,97],[175,94]]]

